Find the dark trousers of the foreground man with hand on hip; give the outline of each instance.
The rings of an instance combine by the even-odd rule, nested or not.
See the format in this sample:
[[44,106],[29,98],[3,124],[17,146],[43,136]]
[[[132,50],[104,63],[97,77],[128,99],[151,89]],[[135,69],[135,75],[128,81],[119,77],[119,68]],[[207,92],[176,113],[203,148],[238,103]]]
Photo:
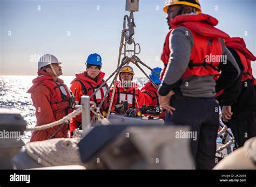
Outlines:
[[191,139],[191,153],[196,169],[215,166],[216,139],[219,128],[219,104],[214,98],[171,98],[176,108],[173,115],[166,114],[165,125],[188,125],[197,132]]

